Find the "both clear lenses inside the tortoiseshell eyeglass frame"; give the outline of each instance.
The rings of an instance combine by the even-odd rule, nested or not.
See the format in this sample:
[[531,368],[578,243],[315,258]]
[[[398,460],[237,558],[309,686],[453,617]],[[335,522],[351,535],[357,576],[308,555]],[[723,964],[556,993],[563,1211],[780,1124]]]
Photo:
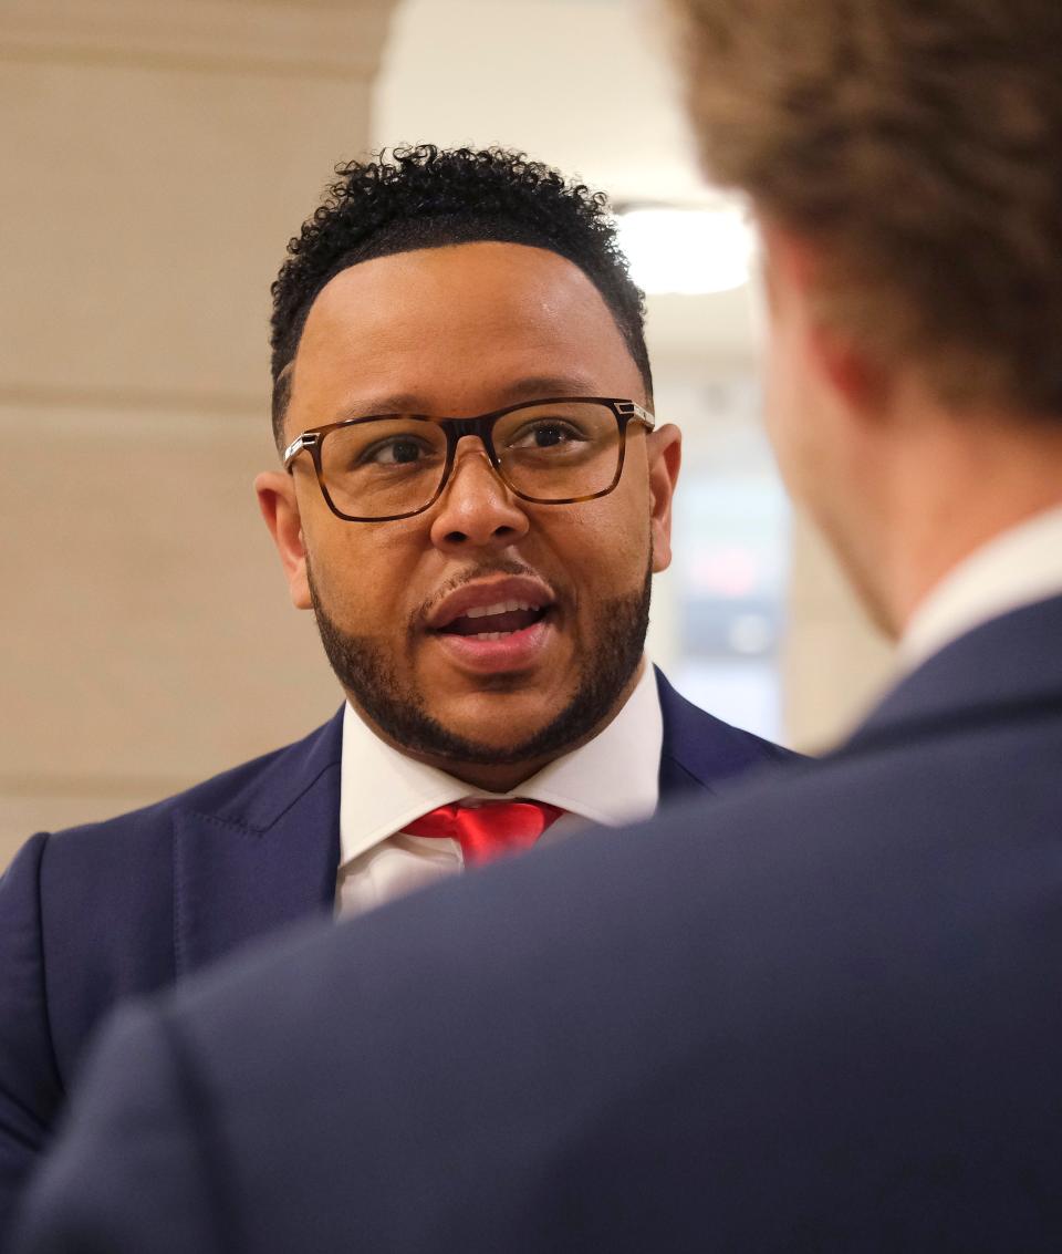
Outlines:
[[[503,478],[539,500],[604,492],[619,463],[619,424],[608,405],[525,405],[493,429]],[[386,518],[426,505],[446,465],[446,435],[430,419],[369,419],[327,433],[321,472],[332,503],[357,518]]]

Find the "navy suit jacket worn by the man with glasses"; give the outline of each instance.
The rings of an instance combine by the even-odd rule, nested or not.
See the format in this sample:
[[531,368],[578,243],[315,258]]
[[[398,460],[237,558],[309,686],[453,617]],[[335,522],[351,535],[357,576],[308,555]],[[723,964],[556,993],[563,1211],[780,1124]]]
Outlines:
[[[657,672],[661,799],[705,796],[786,750]],[[330,914],[342,710],[305,740],[107,823],[36,835],[0,880],[0,1244],[93,1028],[239,944]]]

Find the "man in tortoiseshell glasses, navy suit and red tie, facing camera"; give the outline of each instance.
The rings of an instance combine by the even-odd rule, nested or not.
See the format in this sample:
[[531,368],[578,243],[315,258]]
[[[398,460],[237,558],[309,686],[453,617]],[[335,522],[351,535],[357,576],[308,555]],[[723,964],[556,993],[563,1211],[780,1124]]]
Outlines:
[[787,756],[643,657],[680,441],[601,201],[502,150],[340,173],[273,288],[282,468],[257,489],[347,702],[9,869],[0,1225],[115,1002]]

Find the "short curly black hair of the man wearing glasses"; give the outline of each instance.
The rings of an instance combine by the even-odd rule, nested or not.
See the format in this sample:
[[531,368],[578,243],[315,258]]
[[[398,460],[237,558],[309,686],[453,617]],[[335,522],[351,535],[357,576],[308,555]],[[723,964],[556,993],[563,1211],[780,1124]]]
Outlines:
[[652,398],[644,297],[602,192],[505,148],[394,148],[336,167],[339,182],[287,246],[271,291],[273,434],[282,445],[290,371],[310,306],[340,271],[415,248],[475,241],[548,248],[601,292]]

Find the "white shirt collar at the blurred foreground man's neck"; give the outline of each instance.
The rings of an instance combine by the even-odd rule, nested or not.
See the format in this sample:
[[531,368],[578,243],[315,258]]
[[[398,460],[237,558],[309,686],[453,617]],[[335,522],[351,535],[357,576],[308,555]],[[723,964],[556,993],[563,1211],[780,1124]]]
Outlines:
[[896,660],[913,671],[945,645],[1001,614],[1062,594],[1062,507],[975,549],[915,609]]

